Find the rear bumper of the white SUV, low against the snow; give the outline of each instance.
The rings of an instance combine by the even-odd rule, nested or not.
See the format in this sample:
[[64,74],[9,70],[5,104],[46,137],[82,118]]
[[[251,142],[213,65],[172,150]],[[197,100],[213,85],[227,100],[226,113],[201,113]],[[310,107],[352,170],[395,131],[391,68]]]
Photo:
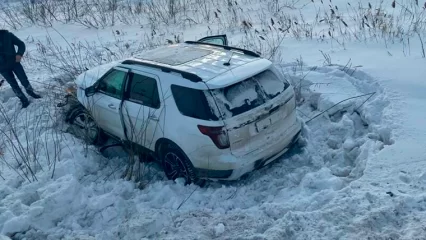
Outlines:
[[[220,161],[217,161],[214,165],[210,167],[210,169],[196,168],[198,172],[198,176],[200,178],[208,178],[208,179],[221,179],[221,180],[236,180],[241,176],[252,172],[253,170],[262,168],[274,160],[281,157],[284,153],[286,153],[299,139],[300,133],[302,131],[302,124],[300,120],[297,120],[294,125],[292,125],[288,131],[285,133],[285,137],[283,139],[287,139],[284,143],[281,141],[275,142],[276,144],[272,144],[270,148],[266,149],[264,152],[273,151],[272,155],[269,154],[266,157],[259,158],[259,156],[243,156],[243,157],[234,157],[227,156],[228,161],[226,161],[226,166],[229,167],[230,159],[232,158],[232,168],[231,169],[223,169],[220,167]],[[213,164],[212,164],[213,165]]]

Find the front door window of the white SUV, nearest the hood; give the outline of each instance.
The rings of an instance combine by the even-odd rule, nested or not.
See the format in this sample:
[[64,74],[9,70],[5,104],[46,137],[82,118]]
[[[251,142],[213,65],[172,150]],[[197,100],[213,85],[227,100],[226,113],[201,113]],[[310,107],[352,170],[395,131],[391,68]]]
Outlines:
[[123,81],[126,77],[126,72],[113,69],[99,82],[99,91],[121,99],[123,93]]

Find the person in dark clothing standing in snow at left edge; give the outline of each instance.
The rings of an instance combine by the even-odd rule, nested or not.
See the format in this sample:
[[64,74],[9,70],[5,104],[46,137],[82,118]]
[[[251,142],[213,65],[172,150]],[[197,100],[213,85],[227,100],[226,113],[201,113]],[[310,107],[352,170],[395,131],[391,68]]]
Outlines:
[[[15,50],[18,47],[18,51]],[[21,100],[22,107],[26,108],[30,104],[16,81],[16,77],[24,86],[25,91],[33,98],[41,98],[34,92],[28,81],[27,74],[21,64],[22,56],[25,52],[25,43],[8,30],[0,29],[0,74],[12,87],[15,95]]]

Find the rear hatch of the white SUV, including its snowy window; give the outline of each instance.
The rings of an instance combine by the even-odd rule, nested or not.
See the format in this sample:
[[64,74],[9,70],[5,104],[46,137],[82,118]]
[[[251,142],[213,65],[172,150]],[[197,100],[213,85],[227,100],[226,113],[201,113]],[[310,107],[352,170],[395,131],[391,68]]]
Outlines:
[[211,93],[238,157],[262,150],[296,121],[293,89],[269,69]]

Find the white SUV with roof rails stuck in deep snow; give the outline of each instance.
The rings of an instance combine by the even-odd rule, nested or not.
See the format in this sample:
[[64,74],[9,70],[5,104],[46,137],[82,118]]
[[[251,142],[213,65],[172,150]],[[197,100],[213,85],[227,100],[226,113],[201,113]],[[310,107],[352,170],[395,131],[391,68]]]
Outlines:
[[137,146],[169,179],[187,183],[238,179],[277,159],[301,132],[290,83],[224,35],[102,65],[75,83],[80,105],[68,120],[93,143],[105,133]]

